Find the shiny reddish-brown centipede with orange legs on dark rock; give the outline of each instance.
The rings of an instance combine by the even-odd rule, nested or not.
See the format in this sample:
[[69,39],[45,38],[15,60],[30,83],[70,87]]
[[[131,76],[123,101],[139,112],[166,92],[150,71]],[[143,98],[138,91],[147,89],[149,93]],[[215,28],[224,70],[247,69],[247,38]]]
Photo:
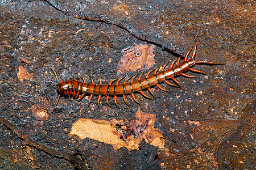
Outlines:
[[[144,71],[143,71],[140,75],[139,75],[139,73],[137,73],[136,75],[125,79],[123,83],[120,83],[120,82],[125,77],[110,80],[110,82],[108,84],[103,84],[102,80],[100,78],[100,84],[96,85],[91,76],[90,76],[90,79],[92,81],[91,83],[86,83],[86,79],[83,77],[82,77],[82,82],[77,79],[73,79],[73,80],[65,79],[65,80],[62,80],[62,82],[60,83],[55,71],[52,69],[53,73],[56,76],[57,91],[59,93],[59,97],[56,101],[53,111],[57,107],[57,104],[59,103],[59,99],[60,99],[61,95],[73,96],[78,101],[80,101],[86,94],[90,95],[89,101],[88,101],[88,107],[89,107],[90,101],[92,100],[94,95],[98,96],[97,104],[98,104],[99,108],[100,108],[100,100],[101,100],[102,96],[106,96],[106,103],[109,105],[109,107],[110,107],[110,104],[109,104],[110,96],[114,96],[114,103],[118,108],[119,108],[119,106],[117,104],[117,96],[122,96],[125,104],[129,106],[129,104],[127,103],[127,100],[126,100],[126,96],[131,95],[133,100],[135,101],[135,103],[139,104],[139,101],[135,98],[135,95],[134,95],[135,93],[140,93],[142,96],[144,96],[148,99],[152,99],[151,97],[147,96],[144,93],[144,91],[147,90],[149,92],[149,94],[151,94],[152,97],[154,97],[154,99],[155,99],[156,97],[151,90],[152,87],[156,86],[160,90],[169,92],[168,90],[166,90],[162,86],[160,86],[160,83],[165,82],[170,86],[181,87],[180,83],[176,80],[177,76],[185,76],[187,78],[199,78],[197,76],[185,74],[185,72],[187,72],[187,71],[192,71],[194,73],[207,75],[207,73],[205,73],[204,71],[192,69],[192,67],[194,65],[197,65],[197,64],[222,65],[222,64],[224,64],[224,63],[220,63],[220,62],[212,62],[212,61],[206,61],[206,60],[196,61],[195,57],[196,57],[196,50],[197,50],[197,40],[196,40],[195,35],[193,35],[193,37],[195,39],[195,45],[192,46],[192,48],[188,50],[187,54],[184,57],[183,62],[180,63],[181,57],[179,57],[171,62],[171,65],[168,69],[166,69],[166,67],[170,61],[168,61],[162,67],[159,66],[157,69],[152,69],[152,70],[148,71],[148,73],[146,74],[146,76],[144,78],[142,78],[142,75],[144,74]],[[189,56],[189,54],[191,54],[192,49],[193,49],[192,56],[191,56],[191,58],[188,59],[188,56]],[[175,66],[175,62],[176,62],[176,66]],[[137,76],[138,76],[138,79],[134,80]],[[173,82],[171,83],[171,82],[169,82],[169,80],[172,80]]]

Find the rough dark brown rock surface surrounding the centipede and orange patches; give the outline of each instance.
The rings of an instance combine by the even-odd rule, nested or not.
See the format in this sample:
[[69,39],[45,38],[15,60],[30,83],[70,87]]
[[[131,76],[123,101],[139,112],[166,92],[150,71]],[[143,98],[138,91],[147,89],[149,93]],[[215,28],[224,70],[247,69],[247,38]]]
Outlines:
[[[52,1],[51,1],[52,2]],[[124,20],[148,37],[170,42],[186,53],[197,37],[197,59],[225,65],[194,68],[209,75],[200,79],[179,77],[181,88],[154,88],[156,100],[127,96],[101,109],[97,97],[78,103],[61,97],[55,112],[45,120],[34,108],[52,112],[57,100],[55,69],[59,80],[92,76],[98,84],[117,76],[122,49],[145,43],[125,29],[65,15],[45,1],[0,1],[0,116],[34,141],[76,154],[93,169],[253,169],[255,168],[255,2],[253,1],[57,1],[83,15],[104,14]],[[156,45],[155,65],[163,66],[171,53]],[[31,79],[18,79],[22,66]],[[194,75],[194,73],[187,73]],[[131,76],[125,73],[122,76]],[[112,99],[112,98],[111,98]],[[114,106],[113,100],[110,102]],[[136,112],[156,114],[155,128],[163,133],[164,150],[144,140],[140,150],[128,151],[85,138],[69,137],[79,118],[130,122]],[[0,124],[1,169],[73,169],[75,165],[26,146]],[[84,167],[86,168],[86,167]]]

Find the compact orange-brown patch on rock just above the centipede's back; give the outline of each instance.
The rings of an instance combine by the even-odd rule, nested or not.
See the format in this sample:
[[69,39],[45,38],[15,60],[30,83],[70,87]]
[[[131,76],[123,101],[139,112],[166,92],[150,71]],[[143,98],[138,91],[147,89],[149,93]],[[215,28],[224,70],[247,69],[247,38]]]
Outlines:
[[153,44],[134,44],[131,48],[123,49],[123,57],[120,58],[117,66],[118,72],[123,74],[149,69],[155,64],[154,49]]

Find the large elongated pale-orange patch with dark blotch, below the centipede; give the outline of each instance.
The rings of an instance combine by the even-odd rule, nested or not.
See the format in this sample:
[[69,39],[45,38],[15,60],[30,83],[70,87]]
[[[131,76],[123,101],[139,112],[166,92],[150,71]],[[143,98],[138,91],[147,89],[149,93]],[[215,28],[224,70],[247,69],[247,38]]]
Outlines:
[[144,138],[150,145],[164,149],[163,134],[154,128],[155,114],[137,111],[138,120],[130,121],[124,125],[122,120],[93,120],[79,118],[71,129],[69,135],[77,135],[79,138],[91,138],[108,143],[114,149],[126,147],[128,150],[138,150],[139,143]]

